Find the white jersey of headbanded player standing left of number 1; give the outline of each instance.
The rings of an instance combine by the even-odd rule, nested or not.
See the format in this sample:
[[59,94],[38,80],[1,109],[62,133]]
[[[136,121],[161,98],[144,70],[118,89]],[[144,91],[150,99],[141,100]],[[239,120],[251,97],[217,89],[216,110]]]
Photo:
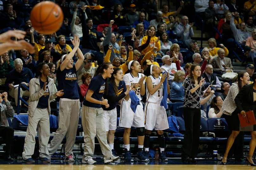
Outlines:
[[[138,77],[134,77],[132,73],[127,73],[123,76],[123,80],[125,82],[125,85],[131,85],[134,87],[135,85],[137,85],[137,83],[139,83],[140,78],[143,76],[144,74],[138,73]],[[143,83],[145,84],[145,80],[143,81]],[[142,100],[140,96],[140,86],[135,90],[135,94],[140,100]],[[131,101],[131,99],[129,99],[128,101]]]

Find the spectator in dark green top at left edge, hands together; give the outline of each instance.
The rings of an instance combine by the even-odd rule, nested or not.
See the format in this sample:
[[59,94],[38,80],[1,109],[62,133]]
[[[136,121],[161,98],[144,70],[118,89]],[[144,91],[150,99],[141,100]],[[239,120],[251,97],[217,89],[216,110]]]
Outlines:
[[5,84],[8,73],[14,68],[12,57],[9,57],[8,51],[0,56],[0,85]]

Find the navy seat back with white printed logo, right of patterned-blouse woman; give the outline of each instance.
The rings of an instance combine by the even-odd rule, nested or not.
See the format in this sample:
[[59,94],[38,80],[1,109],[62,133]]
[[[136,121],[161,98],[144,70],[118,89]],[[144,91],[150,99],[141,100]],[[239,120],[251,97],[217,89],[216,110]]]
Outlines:
[[224,118],[210,118],[207,120],[208,130],[210,132],[224,131],[228,132],[228,123]]

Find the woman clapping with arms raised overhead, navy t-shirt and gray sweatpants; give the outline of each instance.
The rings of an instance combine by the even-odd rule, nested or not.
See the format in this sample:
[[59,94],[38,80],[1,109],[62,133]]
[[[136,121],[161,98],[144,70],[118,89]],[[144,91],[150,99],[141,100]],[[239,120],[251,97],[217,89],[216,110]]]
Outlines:
[[[59,99],[59,128],[48,147],[51,156],[57,151],[66,135],[65,160],[69,162],[75,161],[72,150],[76,139],[80,111],[76,72],[84,62],[84,55],[78,48],[79,43],[79,37],[76,35],[72,41],[73,50],[68,55],[63,55],[57,65],[58,89],[63,89],[64,95]],[[77,52],[78,61],[73,65],[72,57],[75,52]]]

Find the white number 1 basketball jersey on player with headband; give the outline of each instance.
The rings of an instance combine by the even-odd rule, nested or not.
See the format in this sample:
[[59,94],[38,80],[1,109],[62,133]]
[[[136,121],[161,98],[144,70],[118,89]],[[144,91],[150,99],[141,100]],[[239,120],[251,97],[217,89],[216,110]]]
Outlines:
[[[158,78],[155,78],[154,76],[151,75],[151,76],[148,76],[147,79],[149,77],[152,80],[153,88],[160,83],[161,76],[159,76]],[[149,94],[149,91],[147,89],[147,102],[150,102],[150,103],[161,103],[162,98],[163,98],[163,89],[164,89],[164,85],[162,84],[160,86],[160,88],[153,95]]]

